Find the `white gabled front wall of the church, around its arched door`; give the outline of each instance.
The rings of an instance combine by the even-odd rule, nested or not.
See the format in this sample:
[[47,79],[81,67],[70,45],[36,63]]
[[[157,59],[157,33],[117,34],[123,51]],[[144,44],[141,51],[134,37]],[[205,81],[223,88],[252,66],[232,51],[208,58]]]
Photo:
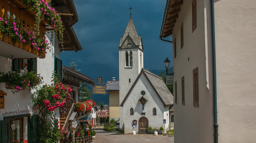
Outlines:
[[[145,116],[148,119],[148,125],[152,128],[164,127],[163,119],[165,118],[167,123],[169,122],[169,116],[166,117],[169,112],[169,106],[164,107],[160,98],[156,94],[153,87],[150,85],[144,74],[141,74],[136,86],[131,91],[129,97],[126,99],[123,110],[124,110],[124,134],[132,133],[132,131],[139,132],[139,119],[141,116],[142,104],[138,101],[142,95],[140,91],[144,90],[146,94],[144,97],[148,100],[144,109],[146,110]],[[130,108],[134,109],[134,115],[130,115]],[[153,108],[157,109],[157,116],[153,116]],[[132,121],[137,120],[137,127],[132,127]],[[167,128],[168,124],[166,124]]]

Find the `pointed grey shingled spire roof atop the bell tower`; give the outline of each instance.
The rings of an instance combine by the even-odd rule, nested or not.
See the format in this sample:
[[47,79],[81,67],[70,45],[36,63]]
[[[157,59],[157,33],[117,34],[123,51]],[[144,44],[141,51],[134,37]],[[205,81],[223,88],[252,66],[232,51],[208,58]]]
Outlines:
[[[135,29],[135,26],[133,24],[133,20],[132,18],[130,18],[129,22],[128,22],[128,25],[124,31],[124,34],[123,34],[123,37],[121,38],[120,40],[120,43],[119,43],[119,46],[118,47],[121,47],[124,40],[126,39],[127,36],[130,36],[131,39],[133,40],[133,42],[135,43],[136,46],[139,46],[139,43],[141,41],[141,37],[138,36],[138,33]],[[143,49],[142,49],[143,50]]]

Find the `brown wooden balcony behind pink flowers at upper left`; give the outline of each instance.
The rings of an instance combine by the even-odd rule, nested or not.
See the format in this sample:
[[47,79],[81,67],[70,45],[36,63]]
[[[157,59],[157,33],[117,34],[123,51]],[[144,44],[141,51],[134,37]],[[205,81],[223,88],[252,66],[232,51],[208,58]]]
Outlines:
[[[9,3],[10,2],[10,3]],[[34,31],[35,24],[35,12],[27,9],[27,5],[23,4],[20,0],[2,0],[0,3],[1,14],[0,17],[8,17],[8,11],[10,15],[15,15],[20,19],[22,27],[26,27],[26,32]],[[4,9],[4,10],[3,10]],[[44,37],[47,30],[56,30],[48,21],[42,20],[40,23],[40,36]],[[1,33],[0,33],[1,34]],[[44,58],[45,51],[38,51],[23,42],[11,41],[10,36],[7,34],[0,38],[0,56],[6,58]]]

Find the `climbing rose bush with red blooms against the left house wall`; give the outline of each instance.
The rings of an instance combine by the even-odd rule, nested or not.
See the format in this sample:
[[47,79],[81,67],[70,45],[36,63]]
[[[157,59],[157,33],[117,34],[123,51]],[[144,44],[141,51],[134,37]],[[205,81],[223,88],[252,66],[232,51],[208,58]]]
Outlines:
[[64,86],[56,77],[52,81],[52,85],[43,85],[32,94],[33,108],[40,112],[40,142],[44,143],[59,142],[66,134],[55,119],[54,109],[63,107],[72,92],[69,86]]

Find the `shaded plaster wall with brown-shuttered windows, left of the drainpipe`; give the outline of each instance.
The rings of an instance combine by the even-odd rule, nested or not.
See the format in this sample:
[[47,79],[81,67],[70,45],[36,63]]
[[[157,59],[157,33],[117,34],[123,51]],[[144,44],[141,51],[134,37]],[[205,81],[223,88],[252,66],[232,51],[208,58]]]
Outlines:
[[[174,82],[177,81],[177,104],[174,104],[175,142],[212,142],[211,95],[206,94],[206,56],[204,1],[197,0],[197,27],[192,33],[192,0],[184,0],[173,28],[177,57],[173,55]],[[181,49],[181,24],[184,46]],[[173,48],[174,53],[174,48]],[[188,60],[189,58],[189,60]],[[199,73],[199,107],[193,106],[193,69]],[[181,103],[181,77],[184,76],[185,105]],[[207,120],[205,120],[207,119]],[[185,137],[184,137],[185,136]]]

